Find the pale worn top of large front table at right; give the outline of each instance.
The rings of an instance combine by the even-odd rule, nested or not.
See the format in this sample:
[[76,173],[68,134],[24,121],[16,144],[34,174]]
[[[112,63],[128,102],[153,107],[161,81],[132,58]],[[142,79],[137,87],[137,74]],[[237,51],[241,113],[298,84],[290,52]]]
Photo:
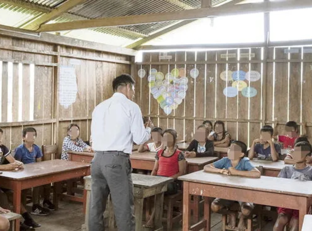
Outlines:
[[204,171],[193,172],[180,176],[178,179],[208,185],[220,185],[286,195],[305,197],[312,196],[312,181],[300,181],[270,176],[261,176],[260,178],[226,176],[218,173],[207,173]]

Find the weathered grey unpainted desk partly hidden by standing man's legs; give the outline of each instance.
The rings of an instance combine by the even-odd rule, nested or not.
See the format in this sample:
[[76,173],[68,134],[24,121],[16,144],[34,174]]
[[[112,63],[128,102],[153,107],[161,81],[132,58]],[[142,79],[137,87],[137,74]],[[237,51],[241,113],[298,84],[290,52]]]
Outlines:
[[[85,213],[85,227],[88,230],[89,224],[89,203],[91,198],[91,176],[84,177],[85,190],[87,190],[86,200],[86,213]],[[154,196],[157,203],[155,203],[155,216],[154,224],[155,230],[162,230],[162,217],[163,217],[163,195],[167,191],[168,184],[173,182],[173,178],[161,177],[161,176],[149,176],[142,174],[132,174],[132,181],[134,187],[134,214],[135,214],[135,230],[142,230],[143,219],[143,201],[144,198]],[[110,205],[112,205],[110,203]],[[113,209],[109,208],[110,213],[113,213]],[[109,218],[114,218],[113,214],[109,215]],[[114,221],[109,221],[111,225],[114,225]],[[109,227],[114,228],[114,227]]]

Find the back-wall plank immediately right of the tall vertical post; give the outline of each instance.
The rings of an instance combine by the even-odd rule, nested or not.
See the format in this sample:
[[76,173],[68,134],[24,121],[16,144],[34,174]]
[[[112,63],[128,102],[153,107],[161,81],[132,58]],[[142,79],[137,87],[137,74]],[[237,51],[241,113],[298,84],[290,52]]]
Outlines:
[[285,62],[275,63],[275,92],[274,92],[274,120],[287,120],[288,105],[288,54],[284,53],[285,48],[275,48],[275,59]]

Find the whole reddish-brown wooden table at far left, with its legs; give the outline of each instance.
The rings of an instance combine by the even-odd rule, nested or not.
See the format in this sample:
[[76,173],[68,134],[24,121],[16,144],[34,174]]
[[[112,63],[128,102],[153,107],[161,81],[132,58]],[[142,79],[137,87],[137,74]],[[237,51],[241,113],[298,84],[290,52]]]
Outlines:
[[[3,171],[0,175],[0,187],[13,190],[14,212],[21,212],[21,191],[40,185],[69,180],[90,174],[90,165],[74,161],[50,160],[25,164],[24,169],[15,171]],[[53,202],[58,206],[57,189],[60,183],[54,185]],[[19,219],[15,222],[16,230],[19,230]]]

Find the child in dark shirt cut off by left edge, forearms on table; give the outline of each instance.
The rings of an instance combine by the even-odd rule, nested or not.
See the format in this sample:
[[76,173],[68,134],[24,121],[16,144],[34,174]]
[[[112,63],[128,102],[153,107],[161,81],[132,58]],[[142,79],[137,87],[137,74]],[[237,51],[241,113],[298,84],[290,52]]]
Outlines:
[[[24,168],[24,164],[20,161],[17,161],[14,159],[14,157],[11,155],[11,151],[2,144],[2,134],[3,130],[0,128],[0,170],[1,171],[9,171],[9,170],[15,170],[15,169],[22,169]],[[2,152],[2,155],[1,155]],[[5,164],[5,161],[8,163]],[[8,189],[0,189],[0,191],[3,191],[7,194],[7,199],[9,202],[13,203],[13,192],[12,190]],[[0,209],[1,210],[1,209]],[[30,214],[27,212],[25,207],[21,204],[21,215],[25,219],[24,222],[21,224],[21,230],[24,230],[26,228],[38,228],[41,225],[37,224]],[[1,228],[0,228],[1,230]]]

